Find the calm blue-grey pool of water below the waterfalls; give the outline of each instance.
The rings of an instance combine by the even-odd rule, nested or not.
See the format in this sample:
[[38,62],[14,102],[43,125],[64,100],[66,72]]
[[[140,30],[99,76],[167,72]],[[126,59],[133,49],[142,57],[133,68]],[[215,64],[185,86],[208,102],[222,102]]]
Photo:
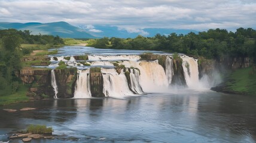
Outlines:
[[188,91],[14,104],[4,108],[38,110],[0,110],[0,141],[32,123],[52,126],[56,142],[66,139],[63,136],[81,142],[255,142],[255,101],[255,97]]

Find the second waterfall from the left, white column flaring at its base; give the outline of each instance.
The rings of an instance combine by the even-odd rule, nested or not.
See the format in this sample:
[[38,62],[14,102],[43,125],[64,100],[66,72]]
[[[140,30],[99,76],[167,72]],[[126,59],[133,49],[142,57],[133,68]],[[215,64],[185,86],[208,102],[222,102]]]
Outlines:
[[77,71],[74,98],[90,98],[90,69]]

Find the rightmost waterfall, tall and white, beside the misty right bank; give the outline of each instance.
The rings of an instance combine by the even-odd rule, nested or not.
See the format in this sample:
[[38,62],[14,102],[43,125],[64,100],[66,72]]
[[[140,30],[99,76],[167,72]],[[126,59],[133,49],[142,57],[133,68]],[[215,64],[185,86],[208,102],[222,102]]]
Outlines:
[[186,55],[182,56],[182,67],[188,88],[197,88],[199,85],[199,71],[197,60]]

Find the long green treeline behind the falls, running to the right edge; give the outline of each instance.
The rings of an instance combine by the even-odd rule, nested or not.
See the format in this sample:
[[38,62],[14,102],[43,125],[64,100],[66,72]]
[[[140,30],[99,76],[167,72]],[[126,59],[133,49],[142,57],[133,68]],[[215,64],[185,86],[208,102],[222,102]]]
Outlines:
[[184,54],[200,55],[206,58],[256,57],[256,30],[239,28],[236,32],[225,29],[210,29],[198,34],[190,32],[187,35],[157,34],[153,38],[137,36],[127,38],[101,38],[88,41],[96,48],[113,49],[147,49]]

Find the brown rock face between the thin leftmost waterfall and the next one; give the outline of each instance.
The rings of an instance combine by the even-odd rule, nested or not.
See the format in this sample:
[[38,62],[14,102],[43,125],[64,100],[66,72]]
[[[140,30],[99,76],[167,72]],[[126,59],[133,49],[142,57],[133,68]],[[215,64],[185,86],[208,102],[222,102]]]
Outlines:
[[58,98],[74,97],[75,82],[77,81],[77,69],[56,69],[54,70],[58,88]]

